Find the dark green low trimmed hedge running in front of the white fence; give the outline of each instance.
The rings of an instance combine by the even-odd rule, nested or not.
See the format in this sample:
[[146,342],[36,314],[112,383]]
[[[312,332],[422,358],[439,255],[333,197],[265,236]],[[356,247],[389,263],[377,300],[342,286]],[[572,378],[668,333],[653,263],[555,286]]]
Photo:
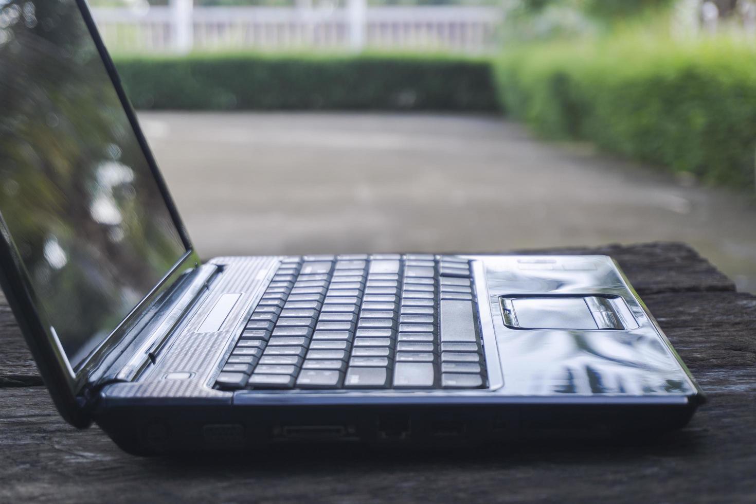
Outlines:
[[136,108],[497,110],[488,60],[197,54],[116,57]]

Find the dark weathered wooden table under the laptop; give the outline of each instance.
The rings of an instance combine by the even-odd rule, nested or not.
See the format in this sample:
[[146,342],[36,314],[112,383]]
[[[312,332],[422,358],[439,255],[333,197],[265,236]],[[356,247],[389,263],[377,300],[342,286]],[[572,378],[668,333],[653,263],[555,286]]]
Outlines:
[[[543,251],[541,251],[543,252]],[[129,456],[54,410],[0,305],[0,501],[756,502],[756,297],[677,243],[563,249],[618,259],[709,403],[655,440],[475,452],[284,449]]]

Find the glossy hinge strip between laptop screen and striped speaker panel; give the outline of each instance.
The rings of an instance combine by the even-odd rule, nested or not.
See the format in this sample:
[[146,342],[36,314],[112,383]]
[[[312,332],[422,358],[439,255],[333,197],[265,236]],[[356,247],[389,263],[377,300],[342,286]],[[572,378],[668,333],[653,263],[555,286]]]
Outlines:
[[[213,277],[220,271],[222,271],[222,266],[218,264],[203,264],[197,268],[191,282],[180,292],[176,292],[176,297],[169,301],[170,311],[167,314],[156,315],[156,317],[162,317],[162,320],[141,341],[132,357],[119,369],[118,373],[115,376],[111,375],[113,381],[131,382],[156,362],[160,351],[166,346],[166,342],[168,342],[174,329],[181,324],[187,313],[194,307],[197,299],[209,289]],[[150,326],[153,326],[153,324],[150,324]]]

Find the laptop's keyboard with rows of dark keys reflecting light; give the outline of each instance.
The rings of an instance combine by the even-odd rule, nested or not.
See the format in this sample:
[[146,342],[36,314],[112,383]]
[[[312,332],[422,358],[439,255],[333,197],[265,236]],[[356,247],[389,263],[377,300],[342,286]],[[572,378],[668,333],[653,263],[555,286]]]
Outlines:
[[481,388],[477,313],[463,258],[285,258],[215,385]]

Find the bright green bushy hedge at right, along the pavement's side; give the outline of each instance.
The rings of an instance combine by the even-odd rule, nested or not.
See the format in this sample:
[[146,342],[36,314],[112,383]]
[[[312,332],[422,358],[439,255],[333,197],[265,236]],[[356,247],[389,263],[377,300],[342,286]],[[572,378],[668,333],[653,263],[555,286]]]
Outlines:
[[523,46],[495,63],[510,115],[705,181],[752,184],[756,50],[637,37]]

